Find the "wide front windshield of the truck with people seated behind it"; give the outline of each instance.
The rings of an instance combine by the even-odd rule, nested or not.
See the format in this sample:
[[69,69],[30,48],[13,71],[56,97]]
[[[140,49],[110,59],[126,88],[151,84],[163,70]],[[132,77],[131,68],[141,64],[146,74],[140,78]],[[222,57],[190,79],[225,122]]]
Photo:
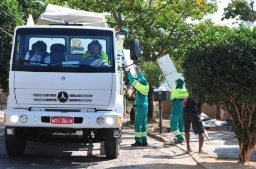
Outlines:
[[13,71],[114,72],[113,32],[84,28],[19,28]]

